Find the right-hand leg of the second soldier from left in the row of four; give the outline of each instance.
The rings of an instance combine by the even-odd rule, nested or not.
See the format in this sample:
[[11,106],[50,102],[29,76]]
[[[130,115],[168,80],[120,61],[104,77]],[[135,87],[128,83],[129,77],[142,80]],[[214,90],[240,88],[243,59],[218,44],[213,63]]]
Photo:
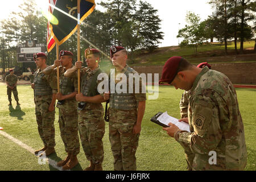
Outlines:
[[64,121],[64,135],[67,144],[67,150],[73,155],[80,152],[80,143],[77,127],[77,111],[62,111]]

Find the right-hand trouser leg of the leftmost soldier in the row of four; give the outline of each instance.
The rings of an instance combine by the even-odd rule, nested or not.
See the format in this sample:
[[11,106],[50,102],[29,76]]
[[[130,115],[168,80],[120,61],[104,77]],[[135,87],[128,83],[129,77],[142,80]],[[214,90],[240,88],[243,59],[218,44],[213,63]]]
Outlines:
[[55,110],[48,111],[49,104],[51,102],[51,97],[49,100],[42,101],[41,104],[41,113],[43,118],[43,134],[44,139],[47,143],[47,148],[54,148],[55,147],[55,127],[54,127],[54,120],[55,120]]

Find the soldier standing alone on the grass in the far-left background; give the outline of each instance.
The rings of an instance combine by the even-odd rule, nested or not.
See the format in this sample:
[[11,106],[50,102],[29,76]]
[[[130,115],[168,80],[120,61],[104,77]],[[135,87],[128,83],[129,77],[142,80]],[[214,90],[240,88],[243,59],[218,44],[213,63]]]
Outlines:
[[13,96],[15,98],[15,101],[17,102],[17,105],[19,104],[19,98],[18,98],[18,90],[17,90],[17,82],[18,77],[14,75],[13,69],[10,69],[10,74],[5,77],[6,84],[7,84],[7,95],[9,100],[9,106],[11,106],[11,92],[13,92]]

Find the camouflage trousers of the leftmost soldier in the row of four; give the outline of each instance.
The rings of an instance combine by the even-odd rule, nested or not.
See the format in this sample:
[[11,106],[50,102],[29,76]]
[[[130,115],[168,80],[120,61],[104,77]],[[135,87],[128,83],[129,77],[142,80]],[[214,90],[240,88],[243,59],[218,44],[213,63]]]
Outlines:
[[35,115],[38,132],[44,146],[55,147],[55,110],[48,111],[52,96],[35,96]]

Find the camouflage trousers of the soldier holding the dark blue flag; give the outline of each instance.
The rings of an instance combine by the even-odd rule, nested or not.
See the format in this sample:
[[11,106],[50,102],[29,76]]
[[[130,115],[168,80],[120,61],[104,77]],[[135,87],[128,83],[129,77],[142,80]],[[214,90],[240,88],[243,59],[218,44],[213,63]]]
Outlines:
[[105,134],[104,109],[79,111],[79,134],[87,160],[101,164],[104,159],[102,138]]

